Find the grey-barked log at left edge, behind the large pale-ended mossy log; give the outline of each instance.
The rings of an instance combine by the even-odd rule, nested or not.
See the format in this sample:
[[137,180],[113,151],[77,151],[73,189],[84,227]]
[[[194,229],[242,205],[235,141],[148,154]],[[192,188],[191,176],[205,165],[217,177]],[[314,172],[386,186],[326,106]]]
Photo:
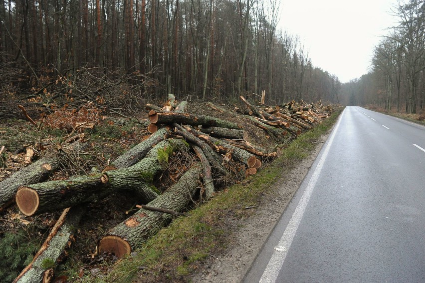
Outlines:
[[14,196],[19,187],[46,180],[54,171],[63,168],[63,160],[67,158],[68,154],[83,150],[86,147],[87,143],[81,143],[77,140],[70,145],[63,146],[63,149],[47,153],[36,162],[1,181],[0,211],[14,202]]

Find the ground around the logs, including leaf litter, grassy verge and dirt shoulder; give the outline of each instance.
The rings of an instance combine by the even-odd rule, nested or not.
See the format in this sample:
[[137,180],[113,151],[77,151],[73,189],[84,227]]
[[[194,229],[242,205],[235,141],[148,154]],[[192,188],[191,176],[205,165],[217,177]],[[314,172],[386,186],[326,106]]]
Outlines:
[[[254,177],[220,190],[212,201],[202,206],[199,200],[194,200],[191,217],[177,219],[129,258],[118,260],[111,254],[98,254],[97,243],[105,231],[128,218],[127,213],[131,214],[135,206],[132,196],[113,194],[98,203],[89,204],[75,235],[75,242],[67,251],[67,257],[56,275],[64,279],[63,282],[240,281],[302,182],[341,110],[327,119],[323,126],[299,136],[280,158],[272,163],[264,162],[262,170]],[[206,107],[204,103],[190,103],[187,112],[242,124],[249,134],[249,141],[263,148],[279,143],[246,122],[240,114],[229,117]],[[147,114],[141,116],[140,119],[147,118]],[[25,149],[29,146],[34,149],[34,156],[31,157],[34,161],[48,147],[55,146],[70,135],[69,130],[50,127],[53,123],[47,124],[49,126],[36,130],[26,120],[9,119],[0,123],[0,148],[5,145],[0,155],[0,181],[28,165],[28,161],[25,162]],[[149,135],[144,127],[134,121],[111,123],[106,120],[100,120],[85,134],[89,147],[73,160],[70,170],[57,172],[51,180],[87,174],[93,167],[103,168],[108,161]],[[165,176],[173,174],[173,164],[179,166],[178,158],[170,160],[170,167],[163,174],[164,180],[160,178],[157,181],[156,185],[161,190],[169,186]],[[0,216],[0,249],[8,233],[19,235],[16,241],[34,244],[26,251],[15,252],[21,260],[14,269],[7,270],[9,278],[4,282],[13,279],[28,263],[25,259],[30,259],[38,250],[60,213],[25,217],[13,206]],[[29,254],[25,255],[25,252]],[[4,265],[9,264],[4,262]],[[1,268],[0,265],[0,271]],[[0,273],[0,278],[6,277],[1,277]]]

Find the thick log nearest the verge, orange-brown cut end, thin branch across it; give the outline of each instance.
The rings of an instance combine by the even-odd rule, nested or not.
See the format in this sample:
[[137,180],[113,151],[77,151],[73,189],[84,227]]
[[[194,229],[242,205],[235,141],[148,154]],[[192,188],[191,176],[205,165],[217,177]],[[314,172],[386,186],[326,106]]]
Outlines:
[[[202,167],[195,164],[177,183],[148,206],[182,212],[197,192],[201,172]],[[100,240],[99,251],[114,253],[119,258],[129,255],[172,219],[170,214],[140,209],[105,234]]]

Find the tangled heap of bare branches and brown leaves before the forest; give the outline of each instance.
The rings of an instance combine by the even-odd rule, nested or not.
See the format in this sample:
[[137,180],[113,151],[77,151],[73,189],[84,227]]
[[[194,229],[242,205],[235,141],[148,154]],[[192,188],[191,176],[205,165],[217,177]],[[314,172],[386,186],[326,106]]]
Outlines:
[[151,72],[124,73],[121,69],[80,66],[60,74],[49,70],[32,88],[33,94],[21,100],[39,102],[48,107],[79,106],[88,101],[120,111],[132,112],[140,98],[158,86]]

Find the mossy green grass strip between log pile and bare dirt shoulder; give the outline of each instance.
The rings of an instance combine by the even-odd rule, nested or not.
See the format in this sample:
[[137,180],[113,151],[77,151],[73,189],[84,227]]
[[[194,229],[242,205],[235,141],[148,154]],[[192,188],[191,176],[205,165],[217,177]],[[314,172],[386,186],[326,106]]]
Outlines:
[[105,276],[86,275],[81,282],[187,282],[210,254],[225,251],[230,228],[225,219],[249,216],[262,194],[270,193],[272,184],[310,155],[317,140],[336,122],[343,108],[322,124],[299,136],[283,150],[282,156],[261,170],[254,178],[215,194],[213,200],[192,210],[191,216],[176,219],[148,240],[133,256],[109,267]]

